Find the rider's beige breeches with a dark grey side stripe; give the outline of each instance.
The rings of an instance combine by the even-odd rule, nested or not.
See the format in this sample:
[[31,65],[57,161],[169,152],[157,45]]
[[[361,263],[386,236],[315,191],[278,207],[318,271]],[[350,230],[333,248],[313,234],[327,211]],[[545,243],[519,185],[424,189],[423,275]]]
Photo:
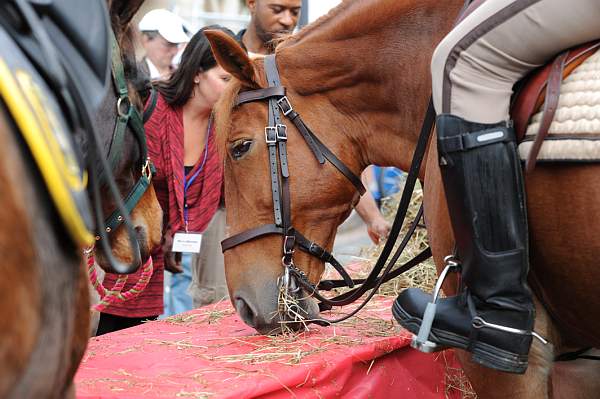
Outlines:
[[438,45],[431,63],[438,114],[509,119],[513,85],[557,53],[600,38],[600,0],[487,0]]

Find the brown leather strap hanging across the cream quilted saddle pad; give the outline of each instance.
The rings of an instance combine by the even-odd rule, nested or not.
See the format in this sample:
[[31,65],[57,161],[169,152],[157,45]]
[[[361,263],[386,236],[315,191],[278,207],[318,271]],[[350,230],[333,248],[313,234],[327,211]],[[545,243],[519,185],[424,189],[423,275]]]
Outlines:
[[540,148],[542,147],[544,139],[548,135],[548,130],[550,129],[550,125],[554,119],[554,114],[558,108],[558,99],[560,97],[560,87],[562,84],[562,73],[568,55],[569,52],[566,51],[559,55],[552,63],[552,69],[550,71],[550,76],[548,77],[548,85],[546,86],[546,101],[544,103],[540,128],[535,140],[533,141],[533,145],[531,146],[531,151],[529,152],[527,161],[525,162],[526,173],[531,173],[535,168],[535,163],[540,152]]

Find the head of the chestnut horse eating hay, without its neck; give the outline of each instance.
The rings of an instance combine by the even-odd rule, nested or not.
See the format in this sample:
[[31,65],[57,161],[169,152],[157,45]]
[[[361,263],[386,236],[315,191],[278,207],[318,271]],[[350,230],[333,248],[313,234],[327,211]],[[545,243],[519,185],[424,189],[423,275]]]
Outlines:
[[[260,225],[273,225],[276,217],[265,143],[267,103],[233,105],[238,92],[264,88],[267,82],[262,59],[250,60],[235,42],[218,32],[207,32],[207,36],[219,63],[237,78],[217,106],[217,135],[225,159],[227,225],[230,235],[235,235]],[[295,109],[305,120],[328,120],[331,126],[344,126],[345,117],[326,98],[314,96],[307,106],[306,101],[300,100],[302,96],[286,85],[285,79],[283,83],[287,97],[293,99]],[[329,135],[323,137],[323,143],[350,170],[360,172],[363,162],[346,137]],[[324,167],[315,160],[302,135],[291,124],[287,127],[287,148],[291,224],[304,237],[331,251],[337,226],[358,201],[357,190],[335,168]],[[317,303],[307,289],[295,289],[295,309],[291,312],[281,309],[280,293],[285,278],[283,241],[280,235],[266,234],[225,252],[230,297],[242,319],[261,333],[279,332],[283,325],[297,329],[303,325],[298,315],[302,315],[300,319],[311,320],[319,314]],[[319,282],[325,267],[322,260],[297,251],[293,261],[312,284]]]

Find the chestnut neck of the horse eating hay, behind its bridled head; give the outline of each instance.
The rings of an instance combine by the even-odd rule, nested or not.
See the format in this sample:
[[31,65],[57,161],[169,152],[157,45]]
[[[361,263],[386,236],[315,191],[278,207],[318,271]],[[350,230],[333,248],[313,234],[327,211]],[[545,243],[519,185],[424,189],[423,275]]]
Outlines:
[[462,0],[344,3],[278,48],[283,79],[345,115],[346,142],[369,164],[408,170],[431,93],[435,45]]

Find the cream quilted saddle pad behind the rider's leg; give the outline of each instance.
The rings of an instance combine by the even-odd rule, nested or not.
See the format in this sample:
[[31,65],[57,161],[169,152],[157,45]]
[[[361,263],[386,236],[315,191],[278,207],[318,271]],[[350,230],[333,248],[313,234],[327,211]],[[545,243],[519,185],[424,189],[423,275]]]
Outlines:
[[[519,155],[527,159],[537,134],[542,112],[527,126]],[[600,162],[600,52],[579,65],[561,86],[558,109],[538,162]]]

